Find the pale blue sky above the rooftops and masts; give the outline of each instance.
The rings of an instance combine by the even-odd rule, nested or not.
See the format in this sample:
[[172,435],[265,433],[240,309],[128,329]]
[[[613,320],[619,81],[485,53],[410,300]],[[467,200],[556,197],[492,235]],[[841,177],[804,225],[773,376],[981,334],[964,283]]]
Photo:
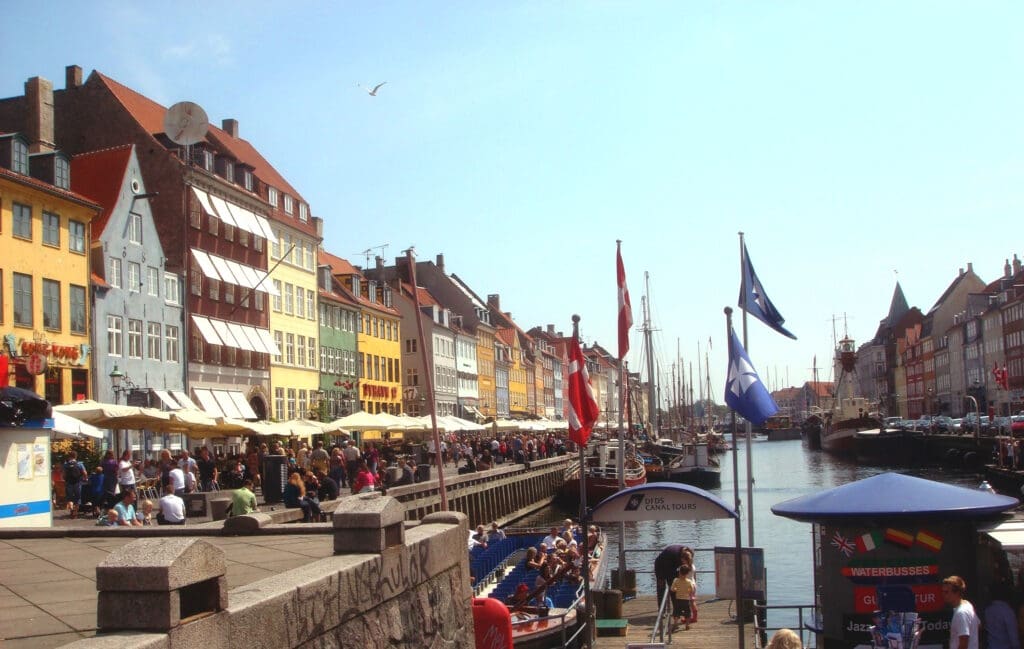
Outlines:
[[991,282],[1024,253],[1020,2],[54,0],[5,17],[0,96],[78,64],[237,119],[329,252],[443,253],[524,330],[578,313],[614,350],[622,240],[630,369],[646,301],[663,385],[677,348],[687,372],[707,354],[719,402],[740,231],[798,337],[750,320],[772,388],[828,378],[834,333],[869,340],[897,279],[927,311],[969,262]]

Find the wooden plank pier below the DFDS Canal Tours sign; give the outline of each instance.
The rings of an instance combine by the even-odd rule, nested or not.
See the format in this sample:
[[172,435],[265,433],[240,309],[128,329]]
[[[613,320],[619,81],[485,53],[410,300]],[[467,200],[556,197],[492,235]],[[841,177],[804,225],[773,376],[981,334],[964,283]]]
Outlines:
[[[689,631],[680,626],[672,636],[667,647],[695,647],[700,649],[735,649],[739,646],[736,621],[729,615],[728,600],[697,600],[697,619]],[[732,609],[735,612],[735,608]],[[657,598],[641,595],[623,603],[623,617],[629,620],[626,637],[599,637],[594,643],[596,649],[624,649],[630,644],[650,642],[657,617]],[[754,624],[743,626],[743,646],[754,649]],[[668,641],[668,637],[666,637]]]

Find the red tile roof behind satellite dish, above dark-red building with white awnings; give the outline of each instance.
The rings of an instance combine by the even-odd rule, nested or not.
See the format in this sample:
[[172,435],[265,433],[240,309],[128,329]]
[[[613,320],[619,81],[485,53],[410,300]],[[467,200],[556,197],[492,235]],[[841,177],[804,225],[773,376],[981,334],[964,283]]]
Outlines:
[[[127,86],[121,85],[98,71],[94,71],[93,74],[110,88],[114,96],[118,98],[142,128],[153,135],[164,132],[164,116],[167,114],[165,106],[135,92]],[[263,182],[297,200],[302,200],[302,197],[295,190],[295,187],[285,180],[278,173],[278,170],[247,140],[241,137],[231,137],[213,124],[210,125],[210,129],[207,131],[207,140],[233,156],[239,162],[252,167],[253,174]]]

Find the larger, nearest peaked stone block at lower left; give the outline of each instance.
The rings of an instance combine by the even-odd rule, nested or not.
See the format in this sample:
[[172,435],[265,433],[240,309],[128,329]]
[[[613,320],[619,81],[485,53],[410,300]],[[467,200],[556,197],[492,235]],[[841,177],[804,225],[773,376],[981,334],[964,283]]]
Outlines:
[[198,538],[140,538],[96,566],[99,633],[169,633],[227,608],[222,550]]

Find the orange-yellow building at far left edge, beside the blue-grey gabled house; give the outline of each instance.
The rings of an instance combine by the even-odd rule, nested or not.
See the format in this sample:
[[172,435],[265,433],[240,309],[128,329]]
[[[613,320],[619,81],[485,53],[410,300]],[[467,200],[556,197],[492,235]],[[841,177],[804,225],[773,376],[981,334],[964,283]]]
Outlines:
[[[0,136],[0,334],[8,376],[53,404],[92,395],[90,223],[100,207],[74,193],[59,152],[32,156],[20,135]],[[38,170],[38,171],[37,171]],[[2,365],[0,365],[2,366]]]

